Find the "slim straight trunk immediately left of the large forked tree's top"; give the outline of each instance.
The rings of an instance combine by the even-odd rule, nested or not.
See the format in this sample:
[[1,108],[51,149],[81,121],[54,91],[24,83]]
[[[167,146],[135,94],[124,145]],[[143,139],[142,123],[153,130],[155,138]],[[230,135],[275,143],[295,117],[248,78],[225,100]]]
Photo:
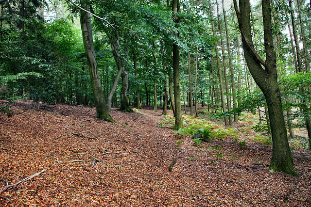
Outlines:
[[[233,64],[232,64],[230,34],[229,34],[229,29],[228,29],[228,22],[227,22],[227,16],[225,12],[224,0],[222,0],[222,4],[223,4],[223,14],[224,14],[224,21],[225,21],[225,34],[226,34],[227,52],[228,52],[228,59],[229,59],[229,69],[230,69],[230,77],[231,77],[232,101],[233,101],[233,109],[235,109],[237,107],[237,91],[236,91],[235,80],[234,80],[234,69],[233,69]],[[238,122],[238,113],[234,113],[233,120],[235,123]]]

